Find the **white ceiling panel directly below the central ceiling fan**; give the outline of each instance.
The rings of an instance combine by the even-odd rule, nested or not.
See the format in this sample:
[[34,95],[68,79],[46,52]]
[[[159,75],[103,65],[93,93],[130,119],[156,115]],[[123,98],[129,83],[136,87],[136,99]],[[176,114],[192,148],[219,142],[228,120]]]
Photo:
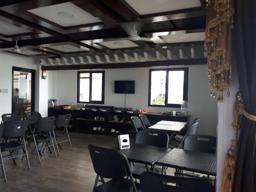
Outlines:
[[131,40],[113,40],[113,41],[104,41],[98,42],[98,44],[108,47],[110,49],[122,49],[122,48],[131,48],[131,47],[139,47]]

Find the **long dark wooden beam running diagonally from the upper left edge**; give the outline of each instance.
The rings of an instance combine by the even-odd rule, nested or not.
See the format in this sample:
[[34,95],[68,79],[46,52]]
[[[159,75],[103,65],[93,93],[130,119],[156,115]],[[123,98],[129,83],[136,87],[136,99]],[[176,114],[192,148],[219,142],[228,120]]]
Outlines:
[[71,41],[74,44],[77,44],[79,46],[86,47],[86,48],[91,49],[93,51],[99,51],[97,48],[94,48],[92,46],[84,44],[83,42],[80,42],[79,40],[76,40],[76,39],[74,39],[74,38],[72,38],[72,37],[70,37],[70,36],[68,36],[66,34],[62,34],[62,33],[59,33],[57,31],[54,31],[52,29],[49,29],[49,28],[47,28],[45,26],[41,26],[41,25],[38,25],[36,23],[30,22],[27,19],[24,19],[24,18],[18,17],[16,15],[10,14],[10,13],[5,12],[3,10],[0,10],[0,15],[3,16],[3,17],[7,17],[9,19],[15,20],[16,22],[22,23],[23,25],[32,27],[32,28],[34,28],[36,30],[39,30],[39,31],[42,31],[42,32],[45,32],[45,33],[48,33],[48,34],[51,34],[51,35],[55,35],[55,36],[61,36],[61,37],[65,38],[66,41]]

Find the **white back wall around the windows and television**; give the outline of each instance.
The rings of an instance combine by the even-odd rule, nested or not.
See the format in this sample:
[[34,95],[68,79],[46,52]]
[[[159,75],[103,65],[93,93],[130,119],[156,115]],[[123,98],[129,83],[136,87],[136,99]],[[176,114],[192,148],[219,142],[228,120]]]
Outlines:
[[[217,100],[209,96],[206,65],[188,66],[188,101],[191,120],[201,118],[198,134],[216,136]],[[147,106],[150,68],[106,69],[105,105],[124,106],[124,94],[114,94],[114,80],[135,80],[135,94],[127,94],[126,106],[148,112],[180,111],[180,109]],[[49,99],[58,104],[76,102],[77,71],[55,71],[49,76]],[[50,86],[51,84],[51,86]],[[56,86],[55,86],[56,84]],[[55,89],[52,90],[52,88]]]

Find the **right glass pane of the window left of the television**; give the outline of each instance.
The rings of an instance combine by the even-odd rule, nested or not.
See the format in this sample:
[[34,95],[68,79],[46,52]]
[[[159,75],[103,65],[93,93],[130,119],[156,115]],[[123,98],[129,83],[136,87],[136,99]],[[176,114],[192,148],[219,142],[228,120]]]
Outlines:
[[92,100],[102,100],[102,73],[92,73]]

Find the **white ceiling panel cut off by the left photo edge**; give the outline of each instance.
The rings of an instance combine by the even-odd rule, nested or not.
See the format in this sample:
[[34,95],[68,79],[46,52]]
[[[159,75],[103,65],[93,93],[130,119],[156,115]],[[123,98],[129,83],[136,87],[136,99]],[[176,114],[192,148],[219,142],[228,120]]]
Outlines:
[[15,34],[22,34],[22,33],[29,33],[31,31],[16,27],[14,25],[4,23],[0,20],[0,33],[4,35],[15,35]]

